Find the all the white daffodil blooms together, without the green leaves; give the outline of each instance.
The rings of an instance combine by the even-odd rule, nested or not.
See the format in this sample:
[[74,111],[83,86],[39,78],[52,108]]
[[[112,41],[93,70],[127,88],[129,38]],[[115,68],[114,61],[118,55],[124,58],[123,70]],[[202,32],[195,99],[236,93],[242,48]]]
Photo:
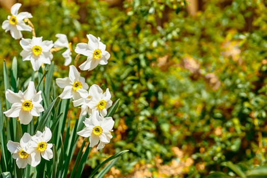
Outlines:
[[[66,49],[62,53],[65,58],[64,65],[70,65],[73,51],[72,44],[69,43],[67,36],[56,34],[57,40],[55,42],[36,37],[34,26],[28,19],[33,17],[32,14],[28,12],[18,13],[20,7],[21,4],[19,3],[12,6],[12,15],[8,16],[8,20],[3,22],[2,28],[6,32],[10,31],[14,39],[20,39],[22,61],[30,61],[33,70],[38,71],[45,64],[51,64],[52,52]],[[33,38],[24,39],[21,31],[32,32]],[[106,45],[100,41],[99,37],[96,38],[88,34],[87,38],[88,43],[78,43],[75,48],[77,56],[80,56],[80,54],[86,56],[86,60],[78,66],[83,71],[93,70],[99,64],[106,65],[110,57],[109,52],[106,51]],[[82,118],[81,116],[87,116],[83,121],[85,128],[77,134],[90,137],[90,147],[97,145],[98,150],[102,149],[105,144],[110,142],[114,126],[112,117],[107,116],[107,109],[112,105],[109,89],[107,88],[103,93],[101,87],[96,84],[89,87],[85,78],[80,76],[74,65],[70,65],[69,76],[57,78],[56,84],[60,88],[64,88],[59,97],[61,99],[72,99],[73,105],[81,108],[80,118]],[[33,117],[40,116],[40,113],[44,111],[41,94],[42,91],[36,91],[34,81],[29,81],[24,92],[14,93],[7,90],[6,99],[12,103],[12,106],[4,114],[16,118],[23,125],[33,122]],[[7,147],[12,153],[12,157],[16,159],[19,168],[25,168],[27,164],[37,166],[41,161],[41,156],[46,160],[53,157],[52,143],[47,143],[50,139],[51,131],[48,127],[45,127],[44,132],[37,131],[33,136],[24,133],[20,142],[9,140]]]

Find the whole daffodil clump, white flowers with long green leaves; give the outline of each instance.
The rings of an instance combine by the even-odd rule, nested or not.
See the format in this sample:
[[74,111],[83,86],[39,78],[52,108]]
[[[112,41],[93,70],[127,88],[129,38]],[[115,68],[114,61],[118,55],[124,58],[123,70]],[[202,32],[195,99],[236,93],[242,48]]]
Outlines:
[[[11,75],[4,61],[5,104],[1,107],[1,176],[2,177],[80,177],[92,147],[97,150],[110,142],[114,114],[118,100],[112,102],[109,89],[93,84],[90,87],[72,63],[72,44],[64,34],[56,34],[57,40],[37,37],[35,26],[29,20],[31,13],[19,12],[20,3],[11,7],[11,15],[2,23],[5,32],[19,40],[22,61],[32,65],[32,75],[20,85],[17,77],[19,65],[12,60]],[[31,38],[23,38],[21,31],[32,32]],[[75,47],[78,60],[85,55],[80,70],[91,71],[98,65],[107,65],[110,53],[106,45],[92,34],[86,35],[87,43]],[[69,75],[53,79],[54,52],[66,49],[62,56],[69,66]],[[77,64],[76,64],[77,65]],[[63,88],[57,95],[57,87]],[[21,88],[21,90],[19,90]],[[23,90],[23,91],[22,91]],[[74,126],[71,127],[69,105],[78,108]],[[113,103],[113,105],[112,105]],[[2,105],[2,104],[0,104]],[[84,127],[85,126],[85,127]],[[84,137],[74,165],[70,166],[78,136]],[[83,151],[85,149],[85,151]],[[108,158],[91,173],[93,177],[106,162],[117,159],[124,152]],[[115,160],[98,172],[102,177]]]

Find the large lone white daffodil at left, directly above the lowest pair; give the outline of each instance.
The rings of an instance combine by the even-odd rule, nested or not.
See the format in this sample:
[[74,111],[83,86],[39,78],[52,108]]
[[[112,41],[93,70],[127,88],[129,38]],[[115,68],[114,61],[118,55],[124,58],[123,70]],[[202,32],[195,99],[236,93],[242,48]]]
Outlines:
[[42,101],[42,91],[36,93],[34,82],[30,81],[27,89],[22,93],[14,93],[11,90],[6,91],[6,98],[13,103],[11,108],[4,112],[8,117],[19,117],[20,124],[29,124],[33,116],[39,116],[44,111],[40,104]]

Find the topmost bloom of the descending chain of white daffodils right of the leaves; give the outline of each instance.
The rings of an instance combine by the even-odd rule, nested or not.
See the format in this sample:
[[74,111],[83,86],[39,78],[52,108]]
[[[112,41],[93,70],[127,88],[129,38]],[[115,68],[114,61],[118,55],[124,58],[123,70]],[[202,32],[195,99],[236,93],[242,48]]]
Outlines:
[[64,88],[62,94],[60,94],[60,98],[68,99],[73,98],[77,100],[79,98],[86,98],[88,96],[88,84],[85,83],[84,77],[80,76],[80,73],[76,69],[75,66],[70,66],[69,77],[65,78],[57,78],[55,80],[56,84]]

